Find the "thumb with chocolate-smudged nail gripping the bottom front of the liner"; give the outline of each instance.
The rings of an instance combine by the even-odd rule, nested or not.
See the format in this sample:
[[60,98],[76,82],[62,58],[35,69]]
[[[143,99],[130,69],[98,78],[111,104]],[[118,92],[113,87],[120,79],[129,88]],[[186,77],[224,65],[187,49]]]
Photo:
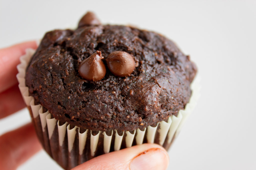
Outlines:
[[72,170],[82,169],[166,169],[169,157],[164,148],[156,144],[143,144],[93,158]]

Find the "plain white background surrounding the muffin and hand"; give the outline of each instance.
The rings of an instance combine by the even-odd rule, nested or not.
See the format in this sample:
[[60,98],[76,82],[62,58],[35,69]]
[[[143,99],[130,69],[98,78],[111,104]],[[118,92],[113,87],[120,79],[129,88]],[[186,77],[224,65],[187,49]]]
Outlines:
[[[255,0],[0,2],[0,47],[75,26],[87,10],[103,23],[174,40],[197,64],[202,89],[169,151],[169,169],[256,169]],[[29,121],[24,109],[0,120],[0,134]],[[41,151],[19,169],[61,168]]]

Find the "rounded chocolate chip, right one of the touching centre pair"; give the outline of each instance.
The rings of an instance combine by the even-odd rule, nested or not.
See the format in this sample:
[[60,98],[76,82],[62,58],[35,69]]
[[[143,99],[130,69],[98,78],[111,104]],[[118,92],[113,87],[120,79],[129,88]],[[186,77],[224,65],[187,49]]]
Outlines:
[[124,51],[114,51],[106,59],[108,68],[115,76],[130,76],[135,68],[133,57]]

